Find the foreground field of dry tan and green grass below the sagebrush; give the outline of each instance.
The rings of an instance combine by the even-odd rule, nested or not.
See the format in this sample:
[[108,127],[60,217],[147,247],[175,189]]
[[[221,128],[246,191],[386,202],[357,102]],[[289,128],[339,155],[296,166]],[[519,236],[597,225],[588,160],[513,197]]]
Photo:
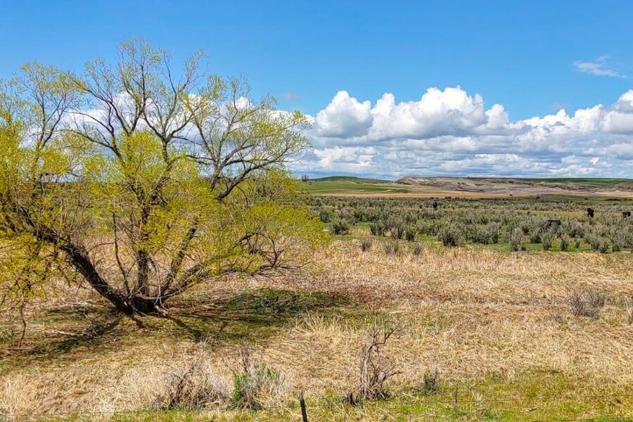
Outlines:
[[[300,421],[300,390],[312,421],[633,415],[630,253],[399,240],[388,253],[381,238],[362,246],[368,237],[354,227],[300,271],[196,286],[169,318],[117,316],[91,290],[59,283],[27,309],[21,343],[19,316],[2,315],[1,417]],[[576,315],[571,298],[585,292],[603,303]],[[352,406],[344,397],[376,327],[395,328],[379,354],[395,375],[383,399]],[[231,406],[245,347],[278,375],[258,410]],[[191,368],[212,399],[165,410],[174,374]]]

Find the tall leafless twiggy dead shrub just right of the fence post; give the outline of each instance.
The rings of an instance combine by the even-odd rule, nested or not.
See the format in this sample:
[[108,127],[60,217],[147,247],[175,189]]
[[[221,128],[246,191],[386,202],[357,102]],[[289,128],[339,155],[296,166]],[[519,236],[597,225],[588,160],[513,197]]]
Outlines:
[[345,396],[345,402],[355,406],[365,400],[383,400],[389,398],[387,381],[402,373],[395,362],[383,353],[383,347],[400,328],[388,321],[374,321],[369,340],[362,347],[359,383]]

